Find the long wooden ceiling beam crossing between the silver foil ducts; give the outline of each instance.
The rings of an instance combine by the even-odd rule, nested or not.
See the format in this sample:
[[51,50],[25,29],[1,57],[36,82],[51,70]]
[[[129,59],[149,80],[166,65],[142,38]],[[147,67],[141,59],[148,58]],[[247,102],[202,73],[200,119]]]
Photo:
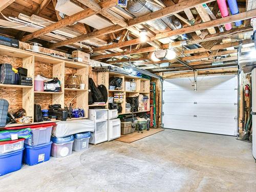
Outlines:
[[[192,0],[192,1],[187,0],[185,2],[176,4],[176,5],[173,5],[173,6],[169,6],[169,7],[163,8],[163,9],[158,10],[158,11],[145,14],[143,16],[130,19],[127,22],[128,26],[129,26],[128,30],[131,30],[130,29],[131,26],[138,25],[138,24],[141,24],[141,23],[145,23],[145,22],[150,21],[150,20],[156,20],[157,18],[172,15],[172,14],[178,13],[178,12],[184,10],[184,9],[190,9],[190,8],[195,7],[196,5],[201,5],[201,4],[209,3],[209,2],[213,2],[213,1],[215,1],[215,0]],[[106,28],[104,28],[104,29],[106,29]],[[102,30],[104,31],[104,29],[102,29]],[[122,29],[125,29],[125,27],[119,27],[119,30],[122,30]],[[108,30],[109,30],[109,33],[115,32],[115,31],[117,31],[117,26],[113,26],[113,29],[108,28]],[[98,34],[102,35],[100,33],[98,33]],[[65,45],[70,45],[70,44],[73,44],[74,42],[78,42],[78,41],[81,41],[81,40],[86,40],[88,38],[90,38],[90,37],[81,35],[77,38],[72,38],[72,39],[68,39],[68,40],[53,44],[53,45],[51,45],[50,48],[56,48],[56,47],[61,47],[61,46],[65,46]]]

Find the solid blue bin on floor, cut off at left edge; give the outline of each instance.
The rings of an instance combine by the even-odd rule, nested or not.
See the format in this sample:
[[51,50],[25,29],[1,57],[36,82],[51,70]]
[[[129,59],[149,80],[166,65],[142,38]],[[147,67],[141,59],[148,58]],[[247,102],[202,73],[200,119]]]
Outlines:
[[15,172],[22,168],[23,150],[24,148],[0,155],[0,176]]

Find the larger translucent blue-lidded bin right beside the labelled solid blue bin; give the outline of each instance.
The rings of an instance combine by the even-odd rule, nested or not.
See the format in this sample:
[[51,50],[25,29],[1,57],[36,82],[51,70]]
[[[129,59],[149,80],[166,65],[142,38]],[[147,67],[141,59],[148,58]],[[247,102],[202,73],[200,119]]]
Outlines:
[[67,136],[62,138],[51,137],[52,150],[51,156],[61,158],[72,154],[74,136]]

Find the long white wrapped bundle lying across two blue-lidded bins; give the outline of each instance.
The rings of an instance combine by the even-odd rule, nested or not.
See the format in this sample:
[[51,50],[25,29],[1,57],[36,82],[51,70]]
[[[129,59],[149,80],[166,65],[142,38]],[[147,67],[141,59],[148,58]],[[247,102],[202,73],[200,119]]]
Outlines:
[[77,133],[94,131],[94,121],[89,119],[79,119],[72,121],[57,122],[56,125],[52,128],[52,135],[55,137],[66,137]]

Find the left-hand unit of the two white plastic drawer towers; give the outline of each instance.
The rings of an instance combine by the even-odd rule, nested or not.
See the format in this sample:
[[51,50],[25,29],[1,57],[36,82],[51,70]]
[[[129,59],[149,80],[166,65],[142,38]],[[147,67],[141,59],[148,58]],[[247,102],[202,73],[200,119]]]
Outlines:
[[89,119],[95,123],[89,143],[98,144],[108,141],[108,109],[89,110]]

